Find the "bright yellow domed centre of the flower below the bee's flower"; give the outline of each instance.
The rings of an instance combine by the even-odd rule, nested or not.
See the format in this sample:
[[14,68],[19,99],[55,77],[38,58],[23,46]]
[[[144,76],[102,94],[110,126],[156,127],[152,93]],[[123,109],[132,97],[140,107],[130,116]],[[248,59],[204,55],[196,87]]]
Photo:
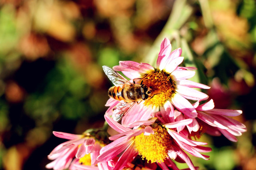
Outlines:
[[143,133],[135,136],[135,149],[142,159],[146,158],[147,161],[162,162],[165,161],[168,156],[168,152],[171,148],[171,136],[167,130],[158,125],[153,129],[155,134],[145,136]]

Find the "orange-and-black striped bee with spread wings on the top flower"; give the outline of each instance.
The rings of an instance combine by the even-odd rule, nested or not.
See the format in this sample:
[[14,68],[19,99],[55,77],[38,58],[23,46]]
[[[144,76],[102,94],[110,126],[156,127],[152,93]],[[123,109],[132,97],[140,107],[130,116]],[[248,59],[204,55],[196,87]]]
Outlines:
[[[118,72],[108,66],[102,66],[103,71],[109,77],[110,81],[115,85],[110,87],[109,96],[115,100],[120,101],[116,108],[113,110],[112,118],[119,121],[128,112],[128,110],[137,102],[151,99],[151,89],[143,84],[128,81],[125,77],[121,76]],[[143,78],[138,78],[143,79]]]

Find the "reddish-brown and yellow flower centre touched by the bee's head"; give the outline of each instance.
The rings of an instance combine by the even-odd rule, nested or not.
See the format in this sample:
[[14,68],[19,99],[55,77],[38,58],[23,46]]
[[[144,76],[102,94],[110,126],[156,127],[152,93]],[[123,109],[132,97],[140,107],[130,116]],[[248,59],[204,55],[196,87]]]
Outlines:
[[152,71],[142,78],[143,84],[151,89],[152,98],[145,105],[163,106],[175,94],[175,83],[171,74],[164,70]]

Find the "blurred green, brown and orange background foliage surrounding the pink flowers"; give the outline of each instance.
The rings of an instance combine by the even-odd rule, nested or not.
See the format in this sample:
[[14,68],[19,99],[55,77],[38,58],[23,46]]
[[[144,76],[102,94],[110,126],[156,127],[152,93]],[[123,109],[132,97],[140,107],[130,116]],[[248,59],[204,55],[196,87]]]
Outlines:
[[154,65],[164,37],[248,129],[237,143],[202,136],[213,151],[194,164],[256,170],[255,0],[0,0],[0,169],[45,170],[66,141],[53,130],[101,127],[111,86],[101,66]]

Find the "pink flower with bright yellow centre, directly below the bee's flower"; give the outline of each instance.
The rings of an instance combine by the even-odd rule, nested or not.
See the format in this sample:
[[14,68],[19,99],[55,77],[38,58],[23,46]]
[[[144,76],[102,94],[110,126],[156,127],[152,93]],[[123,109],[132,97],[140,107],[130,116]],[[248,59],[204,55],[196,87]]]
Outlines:
[[[190,124],[192,119],[162,125],[160,122],[156,122],[157,118],[152,118],[147,121],[131,123],[127,127],[110,119],[108,115],[105,115],[105,119],[110,127],[120,134],[110,137],[110,140],[114,141],[101,149],[101,154],[97,159],[98,161],[109,161],[122,153],[114,170],[121,170],[127,161],[137,154],[141,155],[142,159],[152,163],[156,162],[159,165],[166,160],[170,161],[170,158],[183,160],[191,170],[195,170],[195,167],[183,150],[203,159],[209,157],[199,153],[211,151],[208,147],[199,146],[207,143],[192,141],[175,130],[179,126]],[[168,165],[171,164],[168,163]]]

